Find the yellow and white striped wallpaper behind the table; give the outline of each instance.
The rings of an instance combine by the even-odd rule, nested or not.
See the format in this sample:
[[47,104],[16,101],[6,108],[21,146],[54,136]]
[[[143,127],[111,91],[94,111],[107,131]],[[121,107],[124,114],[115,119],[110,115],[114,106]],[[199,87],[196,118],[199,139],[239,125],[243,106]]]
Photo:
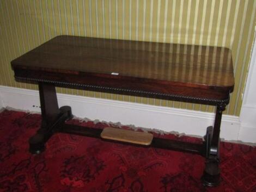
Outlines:
[[[0,84],[17,83],[10,61],[61,34],[225,46],[232,50],[235,89],[225,114],[239,116],[255,28],[254,0],[0,0]],[[57,88],[101,97],[214,112],[199,104]]]

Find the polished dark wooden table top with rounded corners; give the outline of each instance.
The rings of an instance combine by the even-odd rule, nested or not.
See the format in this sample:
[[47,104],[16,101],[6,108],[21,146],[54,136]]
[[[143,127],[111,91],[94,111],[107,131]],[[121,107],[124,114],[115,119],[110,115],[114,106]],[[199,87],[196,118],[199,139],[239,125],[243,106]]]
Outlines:
[[11,61],[11,65],[14,70],[151,80],[228,93],[234,88],[231,51],[224,47],[61,35]]

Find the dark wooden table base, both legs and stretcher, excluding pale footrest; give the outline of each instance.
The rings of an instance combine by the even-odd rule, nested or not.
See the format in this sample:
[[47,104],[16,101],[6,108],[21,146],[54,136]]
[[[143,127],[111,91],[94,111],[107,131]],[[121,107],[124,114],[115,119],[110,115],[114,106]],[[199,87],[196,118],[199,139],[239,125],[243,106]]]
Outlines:
[[[58,107],[57,95],[53,83],[39,82],[42,123],[41,128],[29,139],[29,151],[38,154],[45,149],[45,144],[54,133],[84,135],[100,138],[102,130],[66,125],[64,122],[72,118],[69,106]],[[162,138],[153,138],[151,147],[167,148],[178,151],[195,152],[205,157],[205,169],[201,178],[206,186],[216,186],[220,183],[220,127],[222,112],[226,103],[217,103],[214,126],[207,128],[204,145],[190,144]]]

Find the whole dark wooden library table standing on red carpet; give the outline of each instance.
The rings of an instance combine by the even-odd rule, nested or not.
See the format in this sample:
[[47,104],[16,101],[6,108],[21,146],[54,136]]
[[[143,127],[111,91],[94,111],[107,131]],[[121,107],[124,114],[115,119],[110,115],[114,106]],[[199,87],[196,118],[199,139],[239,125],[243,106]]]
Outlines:
[[[230,49],[62,35],[11,61],[11,66],[17,81],[39,85],[42,123],[29,139],[31,153],[42,152],[57,132],[131,142],[198,153],[205,157],[202,183],[220,183],[221,117],[234,88]],[[207,127],[203,144],[68,125],[71,108],[58,107],[56,86],[208,104],[216,106],[215,122]],[[132,140],[139,137],[145,141]]]

